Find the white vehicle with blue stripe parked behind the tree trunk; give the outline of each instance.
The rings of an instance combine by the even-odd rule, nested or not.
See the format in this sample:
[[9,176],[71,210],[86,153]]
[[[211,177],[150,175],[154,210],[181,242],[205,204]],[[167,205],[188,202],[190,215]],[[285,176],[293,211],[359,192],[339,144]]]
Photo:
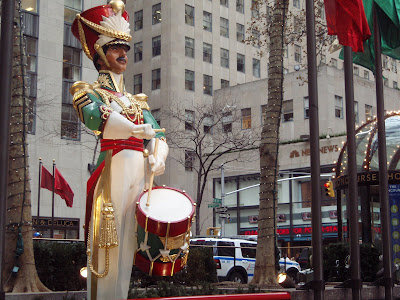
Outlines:
[[[221,281],[249,282],[254,276],[257,242],[232,238],[194,238],[190,247],[212,247],[217,276]],[[300,265],[289,258],[281,258],[279,265],[293,279]]]

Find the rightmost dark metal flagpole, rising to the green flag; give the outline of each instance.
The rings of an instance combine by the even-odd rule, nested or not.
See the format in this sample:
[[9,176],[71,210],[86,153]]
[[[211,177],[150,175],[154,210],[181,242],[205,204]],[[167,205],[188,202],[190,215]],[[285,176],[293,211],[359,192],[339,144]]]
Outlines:
[[383,246],[383,278],[385,284],[385,299],[393,298],[393,277],[392,277],[392,247],[390,236],[390,212],[389,212],[389,184],[387,176],[387,154],[386,154],[386,130],[385,130],[385,106],[383,97],[382,80],[382,51],[381,33],[376,16],[374,15],[374,47],[375,47],[375,83],[376,83],[376,116],[378,127],[378,159],[379,159],[379,199],[381,202],[382,222],[382,246]]

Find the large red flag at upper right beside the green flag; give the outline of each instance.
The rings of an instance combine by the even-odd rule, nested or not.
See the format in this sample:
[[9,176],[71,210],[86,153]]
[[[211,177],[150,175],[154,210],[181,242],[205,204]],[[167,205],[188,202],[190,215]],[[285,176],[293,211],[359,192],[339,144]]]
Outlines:
[[324,0],[329,35],[353,52],[364,52],[363,42],[371,36],[362,0]]

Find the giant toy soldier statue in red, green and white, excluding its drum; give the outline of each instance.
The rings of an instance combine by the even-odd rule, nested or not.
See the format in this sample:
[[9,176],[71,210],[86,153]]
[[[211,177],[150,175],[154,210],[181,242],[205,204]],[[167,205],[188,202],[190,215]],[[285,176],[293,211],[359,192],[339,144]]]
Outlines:
[[128,21],[124,3],[113,0],[78,14],[72,25],[99,71],[93,85],[78,81],[70,90],[80,120],[101,138],[97,168],[87,184],[88,299],[127,298],[137,250],[136,201],[148,173],[164,173],[168,155],[147,96],[125,92],[122,73],[132,39]]

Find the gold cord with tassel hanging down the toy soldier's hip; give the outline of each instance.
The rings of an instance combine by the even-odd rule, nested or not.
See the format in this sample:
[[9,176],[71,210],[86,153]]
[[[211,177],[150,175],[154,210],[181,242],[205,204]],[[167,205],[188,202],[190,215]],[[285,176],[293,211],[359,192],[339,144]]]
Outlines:
[[[110,249],[118,247],[118,234],[115,225],[115,217],[114,217],[114,208],[111,203],[111,159],[112,159],[112,150],[108,150],[105,158],[105,166],[103,172],[101,174],[99,185],[97,188],[97,193],[95,195],[96,201],[103,200],[103,205],[101,209],[101,225],[100,225],[100,241],[98,245],[93,245],[93,248],[98,247],[104,248],[106,251],[105,256],[105,269],[103,273],[99,273],[93,267],[91,261],[91,236],[90,236],[90,225],[89,225],[89,233],[88,233],[88,266],[93,275],[98,278],[103,278],[107,276],[109,268],[110,268]],[[97,209],[97,205],[94,205],[94,209]],[[94,229],[95,230],[95,229]],[[98,249],[95,249],[95,251]]]

